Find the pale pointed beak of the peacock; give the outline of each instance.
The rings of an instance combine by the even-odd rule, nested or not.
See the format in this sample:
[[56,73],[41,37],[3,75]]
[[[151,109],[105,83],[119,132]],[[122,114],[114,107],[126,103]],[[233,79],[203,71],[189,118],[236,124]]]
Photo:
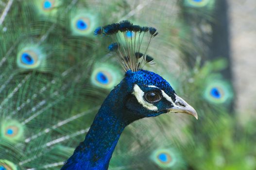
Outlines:
[[187,102],[185,102],[182,98],[180,98],[179,96],[176,96],[176,101],[175,101],[175,105],[174,107],[170,108],[169,111],[170,112],[179,112],[179,113],[186,113],[189,115],[194,116],[196,119],[198,119],[196,110],[190,106]]

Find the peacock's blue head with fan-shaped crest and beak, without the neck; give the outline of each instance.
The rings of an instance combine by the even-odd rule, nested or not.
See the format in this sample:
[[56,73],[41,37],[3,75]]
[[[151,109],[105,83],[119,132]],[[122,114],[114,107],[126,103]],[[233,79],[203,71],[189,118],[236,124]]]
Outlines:
[[[128,33],[133,36],[127,36]],[[152,38],[158,34],[154,27],[141,27],[125,20],[98,27],[94,34],[113,36],[118,41],[110,44],[108,50],[116,53],[120,65],[126,71],[125,78],[111,92],[115,107],[125,110],[122,116],[134,121],[172,112],[187,113],[198,118],[195,109],[177,96],[165,79],[142,69],[146,64],[154,64],[154,58],[147,55]],[[141,44],[147,35],[148,44],[145,52],[141,53]],[[122,39],[123,42],[119,41]],[[120,103],[123,104],[120,106]]]

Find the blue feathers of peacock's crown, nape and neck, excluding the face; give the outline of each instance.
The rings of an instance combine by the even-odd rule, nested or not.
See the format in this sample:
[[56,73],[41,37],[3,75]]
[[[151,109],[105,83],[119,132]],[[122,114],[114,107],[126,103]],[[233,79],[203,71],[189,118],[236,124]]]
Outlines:
[[[93,170],[93,167],[97,167],[95,170],[107,169],[111,155],[125,126],[142,118],[143,115],[145,117],[148,115],[148,111],[139,105],[134,105],[134,101],[128,103],[125,101],[126,97],[132,93],[134,84],[141,86],[157,85],[166,89],[169,94],[174,93],[169,83],[154,72],[146,70],[127,71],[125,78],[103,102],[85,141],[76,148],[62,170]],[[125,109],[126,105],[128,107],[135,106],[142,112],[131,113]]]

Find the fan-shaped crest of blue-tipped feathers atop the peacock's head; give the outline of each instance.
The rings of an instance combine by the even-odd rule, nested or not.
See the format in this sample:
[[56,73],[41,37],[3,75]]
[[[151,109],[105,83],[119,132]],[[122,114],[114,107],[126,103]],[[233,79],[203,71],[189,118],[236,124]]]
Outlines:
[[[146,64],[154,64],[154,58],[147,55],[152,38],[158,32],[154,27],[134,25],[129,20],[98,27],[95,35],[112,36],[116,42],[108,46],[108,51],[116,53],[119,63],[125,71],[138,71]],[[147,39],[148,44],[142,51],[142,42]]]

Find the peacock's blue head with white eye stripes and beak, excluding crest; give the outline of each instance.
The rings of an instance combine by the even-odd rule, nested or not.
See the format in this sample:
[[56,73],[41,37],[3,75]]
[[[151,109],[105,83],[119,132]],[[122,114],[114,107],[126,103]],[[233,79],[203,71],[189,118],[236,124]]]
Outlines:
[[[194,116],[193,107],[180,98],[171,85],[158,74],[139,69],[128,70],[121,83],[126,89],[124,107],[134,119],[155,117],[163,113],[186,113]],[[130,117],[131,118],[131,117]]]

